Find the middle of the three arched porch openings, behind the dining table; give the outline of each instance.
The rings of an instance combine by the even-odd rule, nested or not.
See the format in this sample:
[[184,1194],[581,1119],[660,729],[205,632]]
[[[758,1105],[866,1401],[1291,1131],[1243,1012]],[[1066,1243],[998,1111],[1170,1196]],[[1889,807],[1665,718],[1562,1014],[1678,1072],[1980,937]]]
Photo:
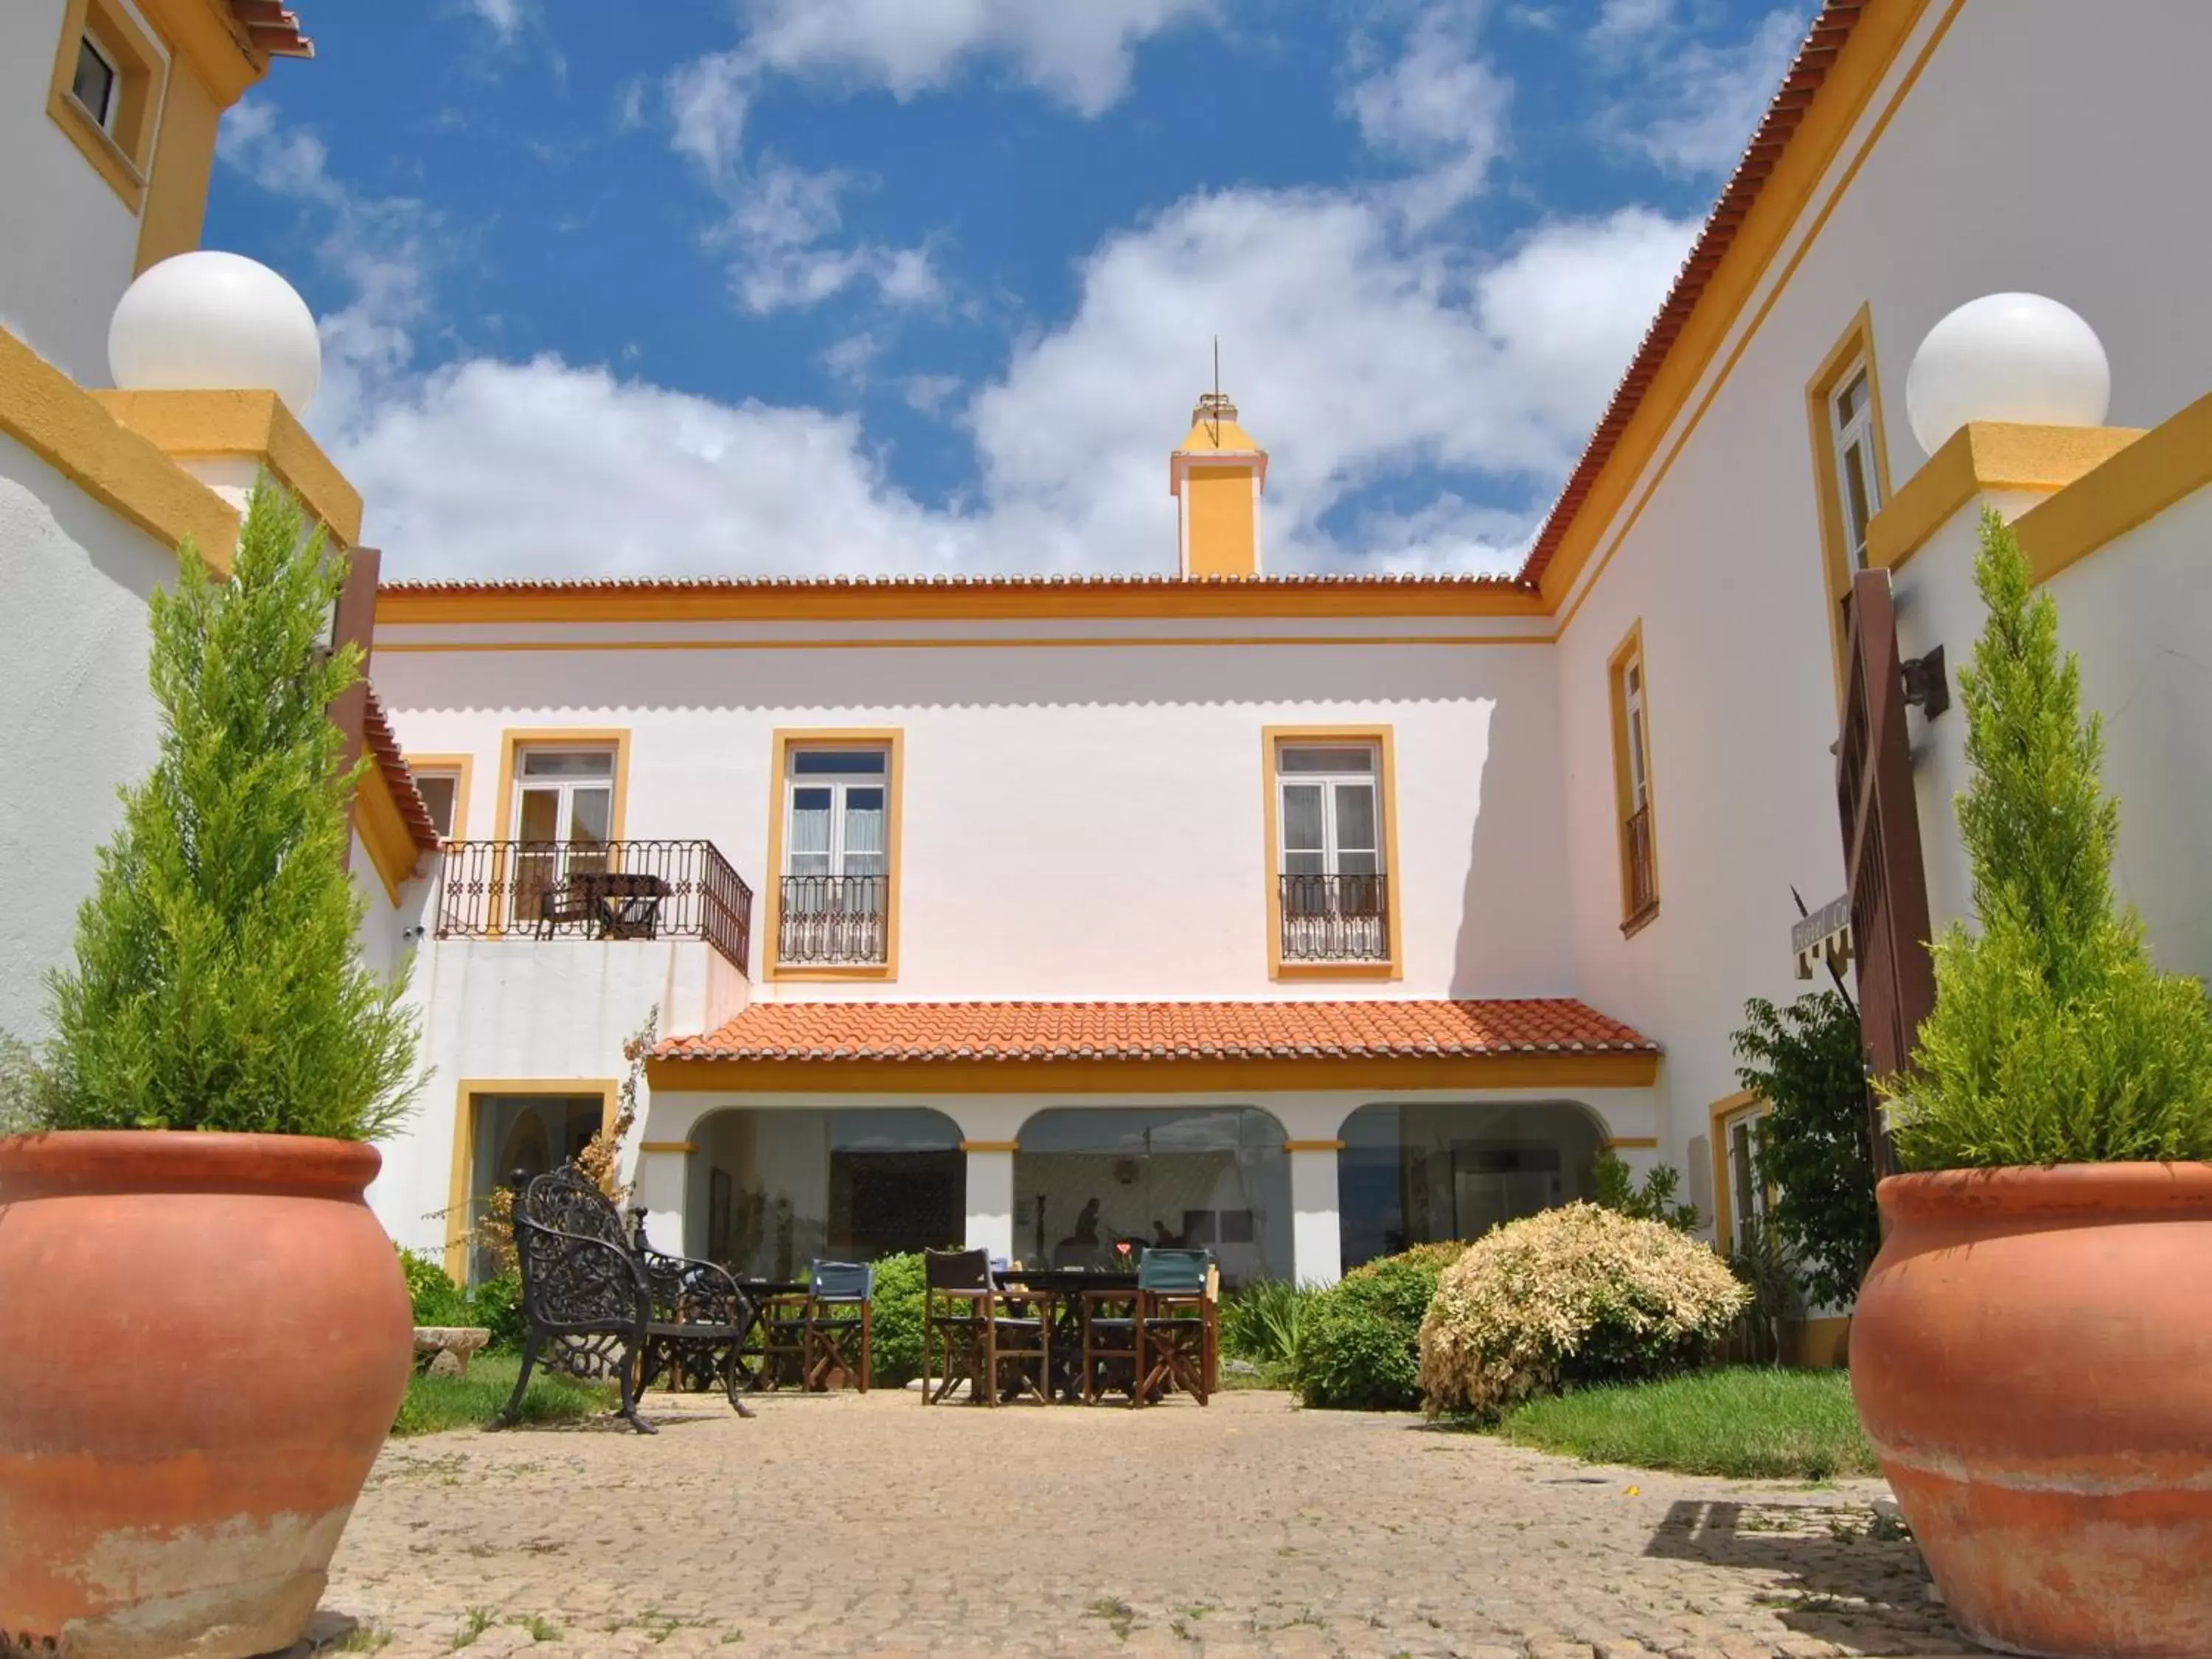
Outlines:
[[1015,1254],[1086,1267],[1117,1241],[1212,1250],[1225,1285],[1290,1279],[1283,1126],[1254,1106],[1068,1106],[1022,1124]]

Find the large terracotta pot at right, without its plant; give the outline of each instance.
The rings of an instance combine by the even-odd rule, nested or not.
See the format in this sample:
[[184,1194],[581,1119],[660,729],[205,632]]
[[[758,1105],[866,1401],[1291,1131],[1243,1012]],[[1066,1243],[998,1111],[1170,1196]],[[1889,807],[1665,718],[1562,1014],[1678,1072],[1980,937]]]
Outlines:
[[2212,1655],[2212,1164],[1900,1175],[1851,1391],[1960,1628]]

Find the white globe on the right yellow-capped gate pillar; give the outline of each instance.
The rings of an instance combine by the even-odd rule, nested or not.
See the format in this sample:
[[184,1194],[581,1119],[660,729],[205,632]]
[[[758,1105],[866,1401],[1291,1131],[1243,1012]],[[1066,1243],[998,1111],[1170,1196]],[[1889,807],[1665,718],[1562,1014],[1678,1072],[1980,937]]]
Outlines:
[[2101,427],[2112,365],[2097,330],[2042,294],[1984,294],[1929,330],[1905,374],[1905,414],[1927,453],[1969,420]]

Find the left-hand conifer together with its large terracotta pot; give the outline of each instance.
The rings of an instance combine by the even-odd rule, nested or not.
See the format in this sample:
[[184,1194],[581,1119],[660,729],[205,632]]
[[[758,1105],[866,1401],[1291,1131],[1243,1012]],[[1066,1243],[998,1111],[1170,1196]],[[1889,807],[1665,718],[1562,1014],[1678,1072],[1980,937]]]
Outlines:
[[416,1031],[345,872],[341,580],[263,482],[230,580],[186,544],[153,595],[161,754],[0,1139],[0,1648],[296,1641],[407,1389],[363,1192]]

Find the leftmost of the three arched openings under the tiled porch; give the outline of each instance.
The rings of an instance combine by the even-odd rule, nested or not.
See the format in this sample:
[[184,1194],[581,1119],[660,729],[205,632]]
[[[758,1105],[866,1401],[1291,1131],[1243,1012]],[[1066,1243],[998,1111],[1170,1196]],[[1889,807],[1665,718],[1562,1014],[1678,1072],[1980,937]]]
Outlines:
[[730,1108],[690,1141],[684,1250],[741,1279],[942,1250],[967,1225],[967,1159],[945,1113]]

